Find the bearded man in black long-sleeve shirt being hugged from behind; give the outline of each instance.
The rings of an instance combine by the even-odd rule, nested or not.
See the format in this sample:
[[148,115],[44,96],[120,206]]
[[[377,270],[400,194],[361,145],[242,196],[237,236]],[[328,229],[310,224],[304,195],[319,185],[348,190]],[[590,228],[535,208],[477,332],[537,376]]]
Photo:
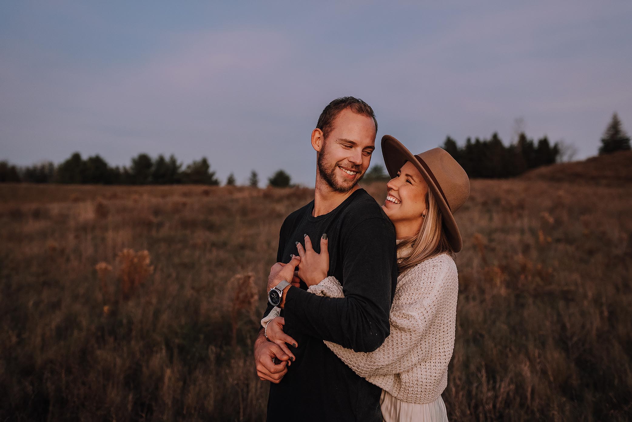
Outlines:
[[[302,282],[300,288],[283,287],[279,306],[286,333],[298,343],[289,345],[296,359],[289,361],[279,346],[267,341],[264,330],[254,348],[257,374],[272,382],[269,421],[382,420],[380,388],[356,375],[323,343],[370,352],[389,335],[397,280],[395,231],[382,208],[358,186],[375,149],[376,133],[372,108],[354,97],[332,101],[312,132],[317,152],[314,200],[289,214],[281,226],[278,263],[270,280],[282,263],[291,263],[288,269],[298,263],[290,256],[297,254],[298,242],[305,243],[305,235],[326,235],[328,275],[341,282],[344,298],[310,294]],[[320,252],[319,242],[313,247]],[[271,304],[265,315],[270,309]],[[275,357],[281,363],[275,364]]]

